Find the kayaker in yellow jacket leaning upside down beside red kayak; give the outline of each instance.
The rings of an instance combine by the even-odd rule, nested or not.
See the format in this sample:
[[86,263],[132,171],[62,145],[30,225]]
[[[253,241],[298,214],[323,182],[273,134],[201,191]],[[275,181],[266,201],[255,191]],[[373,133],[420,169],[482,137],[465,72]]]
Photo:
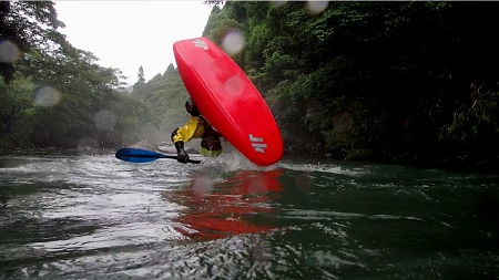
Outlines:
[[220,134],[203,117],[192,97],[185,101],[185,110],[191,114],[189,122],[173,131],[171,139],[176,148],[176,160],[186,164],[189,155],[184,149],[184,143],[201,138],[201,154],[204,156],[218,156],[222,153]]

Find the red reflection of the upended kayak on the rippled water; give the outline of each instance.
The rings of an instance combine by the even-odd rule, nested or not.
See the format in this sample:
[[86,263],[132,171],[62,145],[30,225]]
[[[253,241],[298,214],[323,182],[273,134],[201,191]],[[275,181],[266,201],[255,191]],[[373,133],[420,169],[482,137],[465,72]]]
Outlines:
[[282,190],[282,173],[240,170],[222,183],[194,174],[189,188],[165,191],[164,196],[184,206],[175,221],[184,226],[179,230],[190,238],[210,240],[262,232],[276,228],[268,214],[276,211],[273,203]]

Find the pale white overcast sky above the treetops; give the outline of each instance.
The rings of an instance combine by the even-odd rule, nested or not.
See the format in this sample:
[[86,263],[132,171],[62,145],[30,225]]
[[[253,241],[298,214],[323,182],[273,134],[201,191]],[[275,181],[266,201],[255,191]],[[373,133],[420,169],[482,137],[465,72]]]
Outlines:
[[121,69],[133,84],[141,65],[146,81],[176,66],[173,43],[201,37],[212,7],[203,0],[55,1],[55,10],[73,46]]

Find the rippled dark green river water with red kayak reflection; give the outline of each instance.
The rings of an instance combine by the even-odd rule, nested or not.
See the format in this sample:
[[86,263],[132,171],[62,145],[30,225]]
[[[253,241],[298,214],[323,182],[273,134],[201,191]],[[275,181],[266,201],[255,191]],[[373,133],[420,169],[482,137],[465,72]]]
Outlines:
[[499,175],[0,156],[0,279],[498,279]]

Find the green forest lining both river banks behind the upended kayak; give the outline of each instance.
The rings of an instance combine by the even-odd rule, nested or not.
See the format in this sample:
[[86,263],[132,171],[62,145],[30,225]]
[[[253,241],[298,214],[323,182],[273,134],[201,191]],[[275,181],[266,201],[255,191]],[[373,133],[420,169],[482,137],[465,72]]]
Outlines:
[[[285,158],[498,170],[497,2],[315,3],[204,3],[200,35],[243,35],[231,56],[273,112]],[[126,91],[63,27],[53,2],[0,2],[0,149],[169,141],[187,117],[174,65],[150,81],[139,69]]]

